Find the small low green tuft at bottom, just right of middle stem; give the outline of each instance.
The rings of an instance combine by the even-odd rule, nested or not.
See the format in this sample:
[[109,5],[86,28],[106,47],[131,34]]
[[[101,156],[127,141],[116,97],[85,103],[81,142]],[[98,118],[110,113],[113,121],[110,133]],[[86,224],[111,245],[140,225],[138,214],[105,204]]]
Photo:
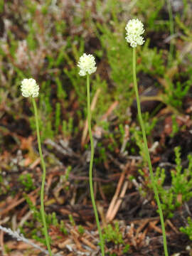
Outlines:
[[111,224],[107,225],[104,228],[103,238],[107,242],[114,242],[115,245],[124,244],[124,240],[122,239],[122,233],[119,230],[119,223],[114,223],[114,228]]

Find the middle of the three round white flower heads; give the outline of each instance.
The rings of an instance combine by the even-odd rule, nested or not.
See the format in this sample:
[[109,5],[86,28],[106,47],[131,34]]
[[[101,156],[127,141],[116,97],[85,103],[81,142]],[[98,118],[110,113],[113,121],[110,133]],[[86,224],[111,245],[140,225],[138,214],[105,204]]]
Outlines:
[[78,67],[80,68],[79,75],[84,76],[87,74],[92,74],[97,70],[95,67],[95,57],[92,54],[83,53],[78,61]]

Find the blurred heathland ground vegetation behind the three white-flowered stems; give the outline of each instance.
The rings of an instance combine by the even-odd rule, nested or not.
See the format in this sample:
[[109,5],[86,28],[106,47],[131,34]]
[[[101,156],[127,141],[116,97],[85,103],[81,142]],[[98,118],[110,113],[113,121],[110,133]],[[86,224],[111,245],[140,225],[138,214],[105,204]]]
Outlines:
[[[95,197],[106,252],[162,255],[137,119],[132,48],[124,39],[127,21],[139,18],[146,42],[137,47],[137,78],[169,254],[192,254],[191,14],[191,0],[0,0],[1,225],[43,247],[35,120],[20,91],[23,78],[34,78],[41,88],[53,252],[99,255],[88,188],[86,86],[77,67],[82,53],[92,53]],[[1,231],[0,246],[3,255],[40,255]]]

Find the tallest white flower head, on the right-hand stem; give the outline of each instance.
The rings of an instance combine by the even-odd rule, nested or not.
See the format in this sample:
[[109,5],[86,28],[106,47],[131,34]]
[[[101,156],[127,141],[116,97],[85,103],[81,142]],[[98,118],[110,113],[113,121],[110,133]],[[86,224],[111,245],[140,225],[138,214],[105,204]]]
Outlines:
[[144,43],[144,38],[141,36],[144,33],[144,24],[139,19],[132,19],[128,21],[127,26],[125,27],[126,40],[127,43],[130,43],[132,47],[137,47],[137,45],[142,46]]

